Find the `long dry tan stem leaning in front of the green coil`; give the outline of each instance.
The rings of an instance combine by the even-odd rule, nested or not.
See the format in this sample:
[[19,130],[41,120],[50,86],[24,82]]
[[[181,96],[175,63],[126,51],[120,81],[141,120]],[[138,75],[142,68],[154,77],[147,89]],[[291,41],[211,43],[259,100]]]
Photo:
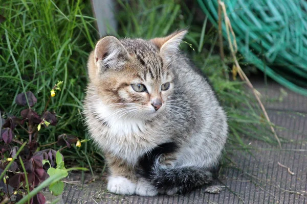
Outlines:
[[[258,96],[258,95],[259,95],[259,92],[254,88],[254,86],[252,85],[252,83],[249,81],[248,77],[245,75],[244,71],[243,71],[242,68],[240,67],[240,65],[239,65],[239,63],[238,63],[238,61],[237,61],[237,58],[236,58],[236,56],[235,56],[235,54],[236,54],[236,52],[237,52],[237,45],[236,45],[236,41],[235,41],[235,35],[234,35],[233,30],[232,30],[231,23],[230,23],[230,20],[229,20],[229,18],[228,18],[227,12],[226,12],[225,3],[224,3],[224,2],[221,2],[221,0],[218,0],[218,2],[219,2],[219,4],[221,5],[221,7],[222,7],[222,9],[223,9],[224,20],[225,20],[225,25],[226,25],[226,32],[227,32],[227,37],[228,37],[228,44],[229,44],[229,48],[230,48],[230,51],[231,51],[231,55],[232,55],[232,57],[233,57],[233,59],[234,59],[235,66],[236,66],[237,69],[238,69],[239,76],[240,76],[240,78],[241,78],[243,81],[246,81],[247,85],[252,89],[253,94],[254,94],[254,96],[256,97],[256,99],[257,99],[257,101],[258,101],[258,103],[259,103],[259,105],[260,105],[260,108],[261,108],[262,112],[264,112],[265,117],[266,117],[267,121],[268,121],[269,124],[270,124],[271,131],[272,131],[272,133],[274,134],[274,137],[275,137],[275,139],[276,139],[277,142],[278,142],[278,146],[279,146],[279,148],[281,148],[280,140],[279,140],[279,138],[278,138],[278,136],[277,136],[277,134],[276,134],[276,132],[275,132],[275,129],[274,129],[274,127],[273,127],[273,125],[272,125],[272,123],[271,123],[271,120],[270,120],[270,118],[269,118],[269,116],[268,116],[268,113],[267,113],[267,111],[266,111],[264,105],[262,104],[262,102],[261,102],[259,96]],[[232,36],[233,36],[233,43],[231,42],[231,37],[230,37],[229,30],[230,30],[230,32],[231,32],[231,34],[232,34]],[[233,48],[233,46],[234,46],[235,49]]]

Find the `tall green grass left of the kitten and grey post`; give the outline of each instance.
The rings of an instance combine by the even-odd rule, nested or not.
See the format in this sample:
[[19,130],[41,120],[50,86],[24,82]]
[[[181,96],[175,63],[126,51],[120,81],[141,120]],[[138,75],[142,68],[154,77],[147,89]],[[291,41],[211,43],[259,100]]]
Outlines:
[[[63,81],[48,107],[56,112],[58,124],[42,129],[40,144],[56,141],[63,133],[85,138],[80,113],[87,56],[97,36],[89,1],[0,0],[0,10],[6,18],[0,23],[1,112],[20,116],[23,107],[15,104],[15,97],[32,91],[38,101],[34,110],[41,113],[52,87]],[[82,146],[86,149],[86,144]],[[75,149],[65,154],[75,155],[72,162],[87,163]]]

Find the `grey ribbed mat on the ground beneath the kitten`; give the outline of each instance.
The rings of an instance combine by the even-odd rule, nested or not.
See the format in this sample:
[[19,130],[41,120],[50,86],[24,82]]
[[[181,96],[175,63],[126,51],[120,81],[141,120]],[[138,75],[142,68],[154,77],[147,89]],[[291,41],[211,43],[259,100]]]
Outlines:
[[[280,86],[274,82],[255,87],[269,98],[279,98]],[[103,180],[84,185],[65,185],[64,203],[307,203],[307,97],[288,91],[283,101],[267,102],[271,120],[286,129],[278,135],[288,142],[282,149],[256,141],[250,143],[250,152],[232,150],[233,164],[223,169],[220,194],[204,193],[205,188],[186,195],[174,196],[121,196],[108,193]],[[254,149],[253,149],[254,148]],[[289,167],[281,167],[281,165]]]

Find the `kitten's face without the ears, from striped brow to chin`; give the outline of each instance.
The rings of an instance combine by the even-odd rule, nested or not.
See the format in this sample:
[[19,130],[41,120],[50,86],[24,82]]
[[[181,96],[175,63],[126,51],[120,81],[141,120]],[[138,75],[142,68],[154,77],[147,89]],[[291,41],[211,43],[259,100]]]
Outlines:
[[163,64],[158,55],[151,56],[150,65],[142,64],[131,54],[121,68],[107,68],[101,73],[98,86],[101,99],[119,111],[119,116],[156,116],[164,110],[174,87],[173,74]]

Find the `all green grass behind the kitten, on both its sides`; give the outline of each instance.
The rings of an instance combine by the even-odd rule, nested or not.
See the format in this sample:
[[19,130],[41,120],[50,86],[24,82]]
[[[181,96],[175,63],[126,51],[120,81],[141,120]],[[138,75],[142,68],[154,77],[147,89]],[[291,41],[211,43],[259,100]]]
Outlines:
[[[207,28],[206,19],[197,20],[198,5],[189,9],[181,1],[131,2],[118,1],[117,37],[150,39],[189,28],[182,49],[208,75],[227,111],[229,144],[245,147],[242,136],[276,143],[251,93],[244,89],[242,82],[231,81],[223,74],[229,72],[232,60],[221,61],[216,52],[217,32]],[[64,82],[62,91],[56,93],[48,108],[56,112],[58,124],[40,131],[39,141],[51,143],[63,133],[89,139],[82,122],[82,99],[87,57],[98,39],[90,1],[0,0],[0,10],[6,17],[0,23],[1,113],[19,116],[22,108],[14,100],[24,91],[35,94],[38,103],[34,110],[42,112],[50,90],[60,80]],[[66,163],[89,166],[93,171],[103,167],[103,157],[91,141],[82,143],[80,148],[66,148],[63,155]]]

